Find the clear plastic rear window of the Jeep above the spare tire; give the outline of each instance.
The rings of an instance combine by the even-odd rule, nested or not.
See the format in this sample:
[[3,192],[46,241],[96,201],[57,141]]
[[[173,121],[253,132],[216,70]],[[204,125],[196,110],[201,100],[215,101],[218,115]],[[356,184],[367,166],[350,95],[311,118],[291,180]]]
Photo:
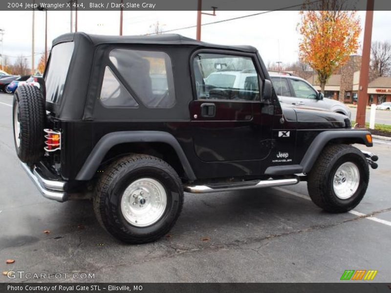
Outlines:
[[50,63],[45,73],[46,101],[48,102],[58,104],[61,101],[73,47],[73,42],[65,42],[52,48]]

